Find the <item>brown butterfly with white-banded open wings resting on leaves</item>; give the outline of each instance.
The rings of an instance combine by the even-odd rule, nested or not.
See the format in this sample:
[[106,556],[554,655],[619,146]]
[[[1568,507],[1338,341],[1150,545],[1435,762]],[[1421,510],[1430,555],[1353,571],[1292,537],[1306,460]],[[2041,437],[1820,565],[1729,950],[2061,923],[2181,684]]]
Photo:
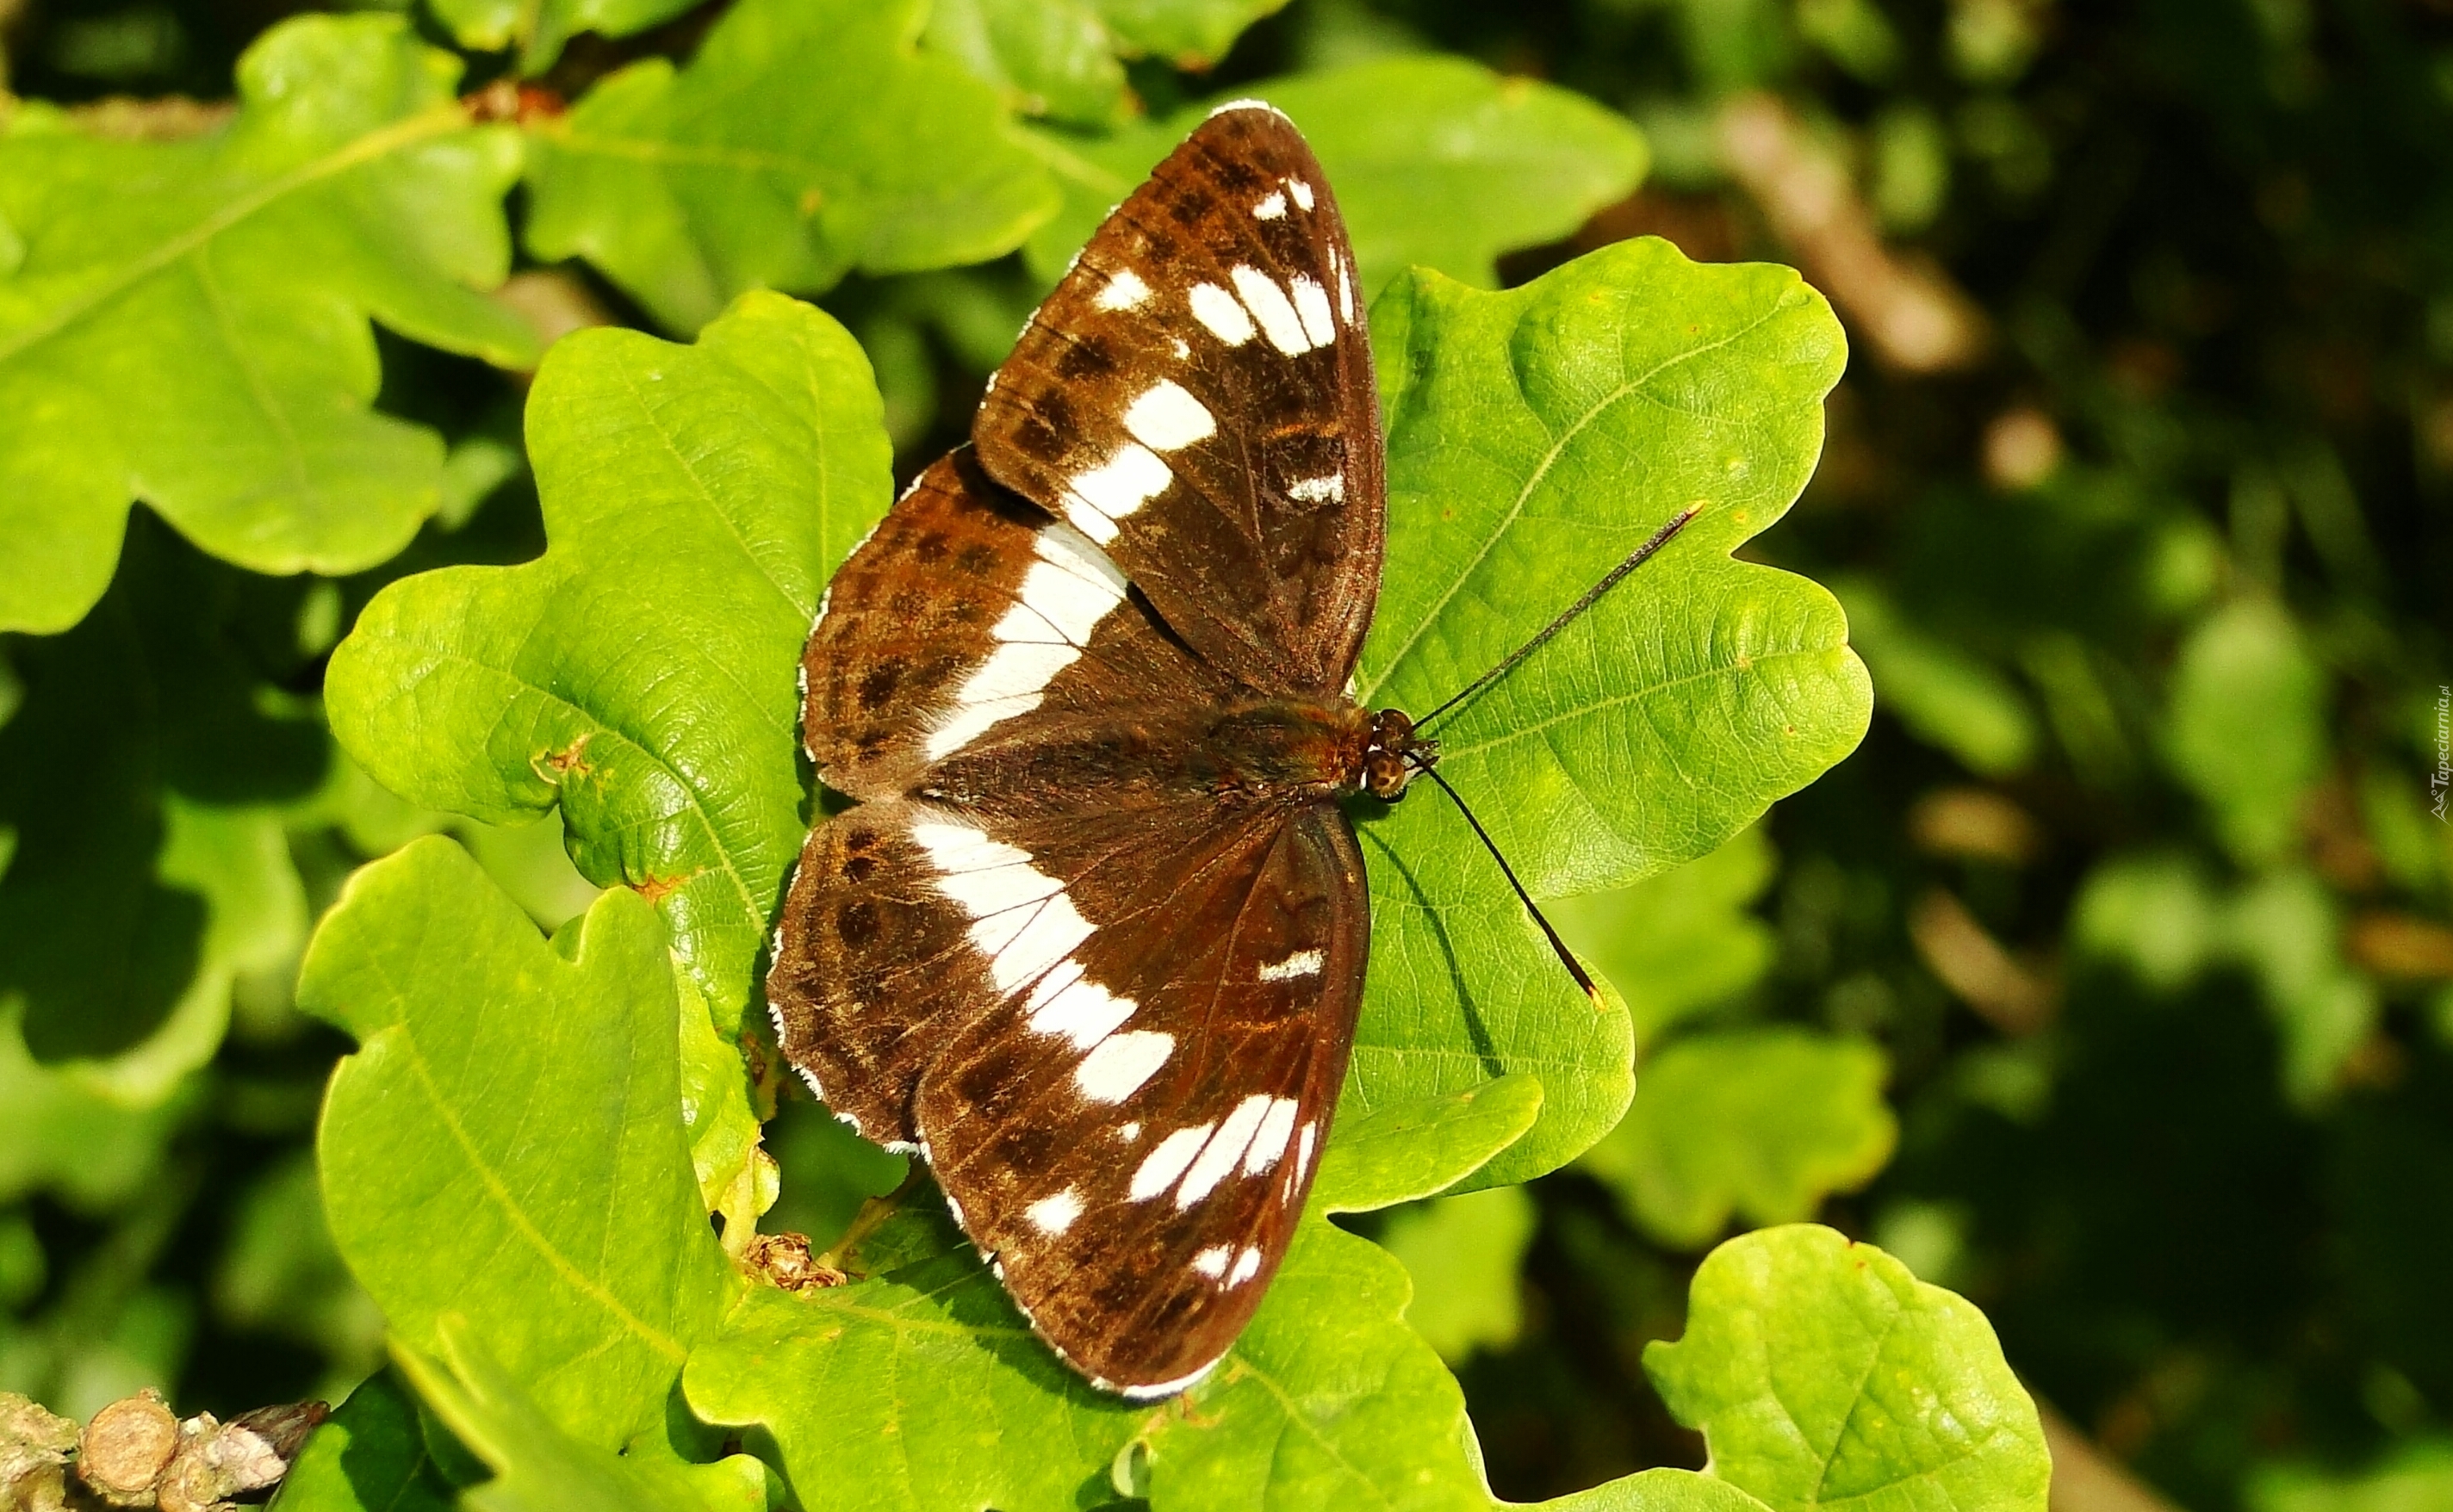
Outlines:
[[1383,542],[1337,198],[1234,103],[1082,248],[802,657],[856,801],[783,907],[783,1054],[1126,1397],[1226,1355],[1320,1171],[1371,939],[1339,799],[1437,760],[1349,696]]

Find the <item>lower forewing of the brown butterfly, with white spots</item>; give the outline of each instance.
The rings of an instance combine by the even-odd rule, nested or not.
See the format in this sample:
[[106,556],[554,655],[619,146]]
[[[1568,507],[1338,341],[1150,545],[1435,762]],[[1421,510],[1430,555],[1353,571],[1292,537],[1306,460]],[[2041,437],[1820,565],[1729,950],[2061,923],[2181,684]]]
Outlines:
[[1234,1345],[1310,1193],[1361,1000],[1361,853],[1327,801],[1047,816],[991,845],[1096,924],[944,1044],[920,1135],[1040,1336],[1168,1394]]

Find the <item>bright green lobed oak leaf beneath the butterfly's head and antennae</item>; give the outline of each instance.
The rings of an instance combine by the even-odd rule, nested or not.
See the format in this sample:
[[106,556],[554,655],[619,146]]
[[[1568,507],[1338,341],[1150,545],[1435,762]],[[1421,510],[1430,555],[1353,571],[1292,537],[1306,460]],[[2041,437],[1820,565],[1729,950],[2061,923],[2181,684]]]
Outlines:
[[[1869,691],[1840,605],[1729,556],[1788,510],[1823,444],[1845,348],[1820,294],[1786,267],[1639,240],[1504,294],[1418,270],[1371,321],[1388,561],[1364,703],[1428,713],[1700,510],[1435,725],[1442,777],[1536,894],[1705,855],[1854,750]],[[1572,1159],[1626,1110],[1626,1010],[1575,990],[1440,794],[1361,816],[1374,936],[1349,1095],[1531,1071],[1543,1122],[1477,1184]]]

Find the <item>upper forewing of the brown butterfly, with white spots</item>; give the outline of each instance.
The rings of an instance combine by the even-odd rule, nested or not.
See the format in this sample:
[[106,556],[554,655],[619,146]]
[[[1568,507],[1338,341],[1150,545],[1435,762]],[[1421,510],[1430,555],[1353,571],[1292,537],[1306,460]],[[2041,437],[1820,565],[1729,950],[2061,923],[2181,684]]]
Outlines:
[[1379,399],[1354,252],[1293,123],[1229,105],[1082,248],[971,426],[1204,662],[1339,696],[1379,595]]

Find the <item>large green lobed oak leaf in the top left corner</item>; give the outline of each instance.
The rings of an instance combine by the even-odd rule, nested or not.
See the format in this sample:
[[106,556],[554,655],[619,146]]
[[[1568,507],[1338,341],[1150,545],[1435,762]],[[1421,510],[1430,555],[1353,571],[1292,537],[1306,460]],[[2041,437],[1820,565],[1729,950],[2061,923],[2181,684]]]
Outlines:
[[[348,573],[444,500],[434,431],[375,414],[368,319],[500,365],[535,336],[503,279],[508,127],[402,17],[297,17],[238,64],[238,110],[179,142],[0,135],[0,627],[101,598],[128,502],[262,573]],[[177,353],[179,360],[162,360]]]

